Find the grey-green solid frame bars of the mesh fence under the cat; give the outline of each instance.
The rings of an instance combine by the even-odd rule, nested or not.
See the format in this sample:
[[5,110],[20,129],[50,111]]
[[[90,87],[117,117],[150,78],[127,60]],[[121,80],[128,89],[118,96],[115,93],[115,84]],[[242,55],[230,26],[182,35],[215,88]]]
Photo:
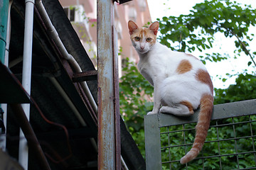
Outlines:
[[[160,128],[172,125],[185,125],[187,123],[196,123],[198,113],[188,117],[178,117],[169,114],[155,114],[144,116],[145,128],[145,149],[146,149],[146,170],[161,170],[161,136]],[[256,99],[248,101],[238,101],[233,103],[224,103],[215,105],[211,120],[221,120],[243,115],[256,114]]]

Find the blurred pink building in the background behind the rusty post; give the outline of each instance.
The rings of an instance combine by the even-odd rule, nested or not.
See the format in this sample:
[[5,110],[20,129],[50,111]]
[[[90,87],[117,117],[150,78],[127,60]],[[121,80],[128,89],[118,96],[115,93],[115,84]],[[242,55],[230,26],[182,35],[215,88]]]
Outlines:
[[[88,55],[96,65],[96,46],[97,45],[97,0],[59,0],[63,8],[76,8],[80,6],[80,10],[76,10],[75,15],[82,15],[79,19],[71,22],[75,28],[82,44],[87,50]],[[129,57],[130,61],[138,62],[139,57],[137,52],[132,47],[132,42],[129,38],[127,23],[133,20],[138,26],[144,26],[151,22],[149,6],[146,0],[133,0],[125,4],[115,4],[114,9],[114,26],[118,33],[118,45],[122,47],[122,55],[119,57],[119,70],[121,70],[122,60]],[[85,18],[85,21],[81,21]],[[85,26],[83,26],[85,25]],[[122,72],[119,72],[122,74]]]

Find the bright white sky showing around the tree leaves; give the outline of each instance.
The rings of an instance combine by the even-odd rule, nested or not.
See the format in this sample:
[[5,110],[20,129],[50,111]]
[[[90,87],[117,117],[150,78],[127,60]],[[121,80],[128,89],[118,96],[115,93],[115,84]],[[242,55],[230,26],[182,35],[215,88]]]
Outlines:
[[[193,6],[198,3],[202,3],[203,0],[147,0],[149,4],[149,10],[151,13],[152,21],[156,21],[156,18],[162,18],[163,16],[179,16],[181,14],[187,15],[192,10]],[[253,8],[256,8],[256,1],[252,0],[237,0],[240,4],[251,4]],[[256,32],[256,28],[251,28],[251,33]],[[256,38],[255,38],[256,39]],[[218,34],[215,35],[215,43],[213,44],[213,49],[208,51],[208,53],[212,53],[214,51],[223,54],[224,52],[229,54],[231,59],[225,60],[222,62],[206,62],[206,67],[208,72],[210,73],[211,77],[213,77],[213,86],[216,88],[225,89],[228,88],[230,84],[235,84],[235,77],[228,79],[223,83],[218,77],[225,77],[226,73],[235,74],[238,72],[242,72],[244,69],[248,69],[247,62],[250,61],[250,57],[246,55],[241,55],[237,60],[233,59],[233,51],[235,50],[233,38],[225,38],[224,35]],[[256,40],[250,42],[250,47],[256,47]],[[256,50],[252,50],[256,51]],[[193,55],[203,55],[201,52],[193,52]],[[250,67],[249,70],[253,70]],[[251,73],[251,72],[249,72]],[[216,77],[216,75],[219,75]]]

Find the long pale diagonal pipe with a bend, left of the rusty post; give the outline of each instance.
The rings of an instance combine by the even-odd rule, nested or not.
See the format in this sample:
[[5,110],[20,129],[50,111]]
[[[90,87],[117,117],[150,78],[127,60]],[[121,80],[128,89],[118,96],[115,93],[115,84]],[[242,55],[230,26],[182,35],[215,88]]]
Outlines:
[[[68,62],[70,63],[71,67],[73,67],[75,72],[82,72],[82,69],[80,68],[78,62],[76,62],[74,57],[70,55],[68,51],[65,49],[65,46],[63,45],[63,42],[60,40],[58,32],[57,30],[55,30],[53,23],[51,23],[48,13],[46,12],[46,8],[44,8],[41,0],[36,1],[36,7],[38,8],[39,13],[41,14],[43,22],[46,24],[46,28],[50,33],[50,37],[53,38],[55,44],[57,45],[65,60],[68,60]],[[89,87],[87,86],[86,81],[83,81],[80,84],[82,85],[82,89],[85,91],[85,94],[87,95],[87,98],[89,99],[93,110],[95,111],[95,113],[97,113],[97,104],[94,98],[92,97],[92,94],[90,92]]]

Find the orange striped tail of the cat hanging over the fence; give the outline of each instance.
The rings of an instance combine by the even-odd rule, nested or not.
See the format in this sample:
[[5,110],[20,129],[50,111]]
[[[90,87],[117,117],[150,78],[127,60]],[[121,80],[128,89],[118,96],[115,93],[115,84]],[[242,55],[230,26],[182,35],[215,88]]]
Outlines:
[[206,141],[208,128],[210,125],[211,114],[213,113],[213,95],[204,94],[201,98],[201,111],[198,115],[198,123],[196,125],[196,137],[191,150],[181,158],[181,164],[186,164],[195,159]]

